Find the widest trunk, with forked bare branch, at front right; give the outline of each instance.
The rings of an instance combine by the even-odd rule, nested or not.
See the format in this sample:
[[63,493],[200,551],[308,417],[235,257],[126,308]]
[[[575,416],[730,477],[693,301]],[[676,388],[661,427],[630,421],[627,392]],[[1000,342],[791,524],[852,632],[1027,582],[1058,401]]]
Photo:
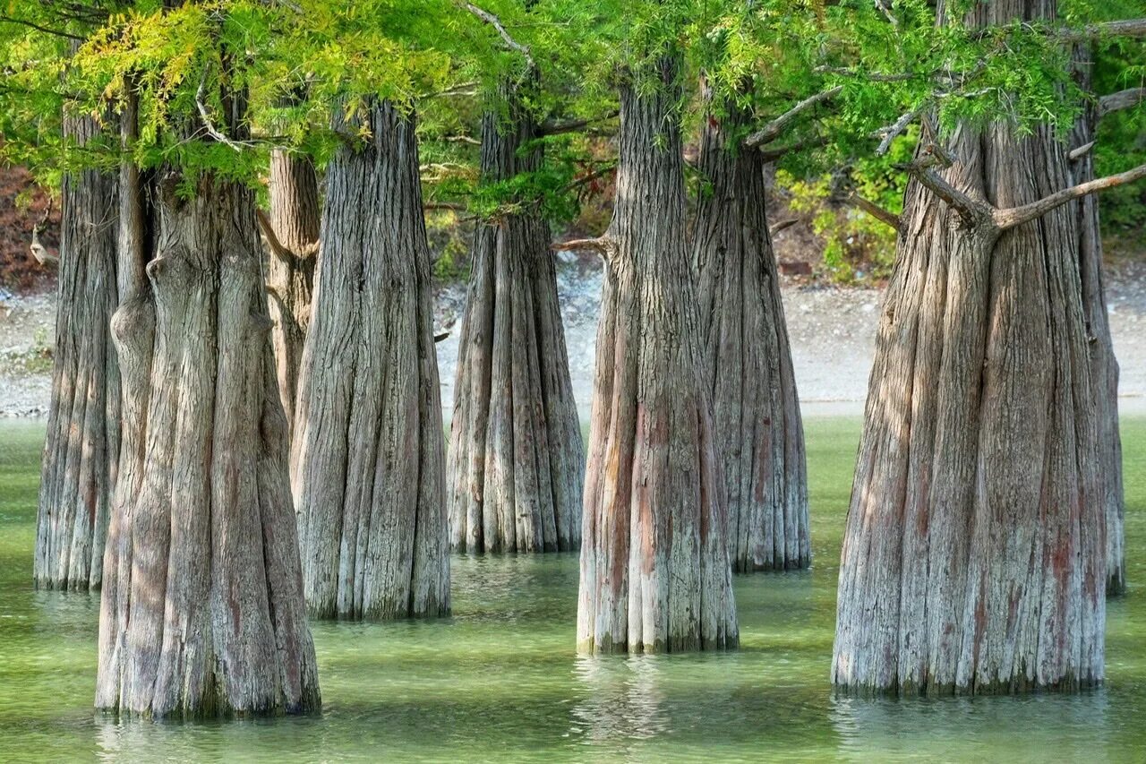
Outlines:
[[[998,0],[972,22],[1052,17]],[[960,128],[945,179],[1013,208],[1070,182],[1051,131]],[[999,234],[909,185],[840,568],[847,692],[1078,689],[1104,676],[1105,513],[1076,213]]]

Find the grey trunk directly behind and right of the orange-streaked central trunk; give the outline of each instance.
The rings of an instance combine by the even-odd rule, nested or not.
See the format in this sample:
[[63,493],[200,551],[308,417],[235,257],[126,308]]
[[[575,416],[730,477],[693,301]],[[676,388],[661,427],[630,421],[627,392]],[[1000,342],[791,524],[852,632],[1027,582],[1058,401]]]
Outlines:
[[715,449],[728,491],[729,556],[740,572],[806,568],[803,423],[764,210],[764,162],[729,145],[744,114],[706,119],[700,171],[712,188],[693,247]]

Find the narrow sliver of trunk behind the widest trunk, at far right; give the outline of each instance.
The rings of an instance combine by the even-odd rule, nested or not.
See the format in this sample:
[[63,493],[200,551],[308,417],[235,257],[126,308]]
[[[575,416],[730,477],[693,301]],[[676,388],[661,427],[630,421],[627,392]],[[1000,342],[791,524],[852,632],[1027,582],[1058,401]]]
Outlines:
[[[1091,89],[1089,47],[1075,52],[1077,77],[1084,91]],[[1070,146],[1086,146],[1094,140],[1098,110],[1093,103],[1075,123]],[[1072,182],[1094,179],[1094,156],[1086,151],[1072,166]],[[1098,216],[1098,198],[1078,201],[1078,273],[1082,276],[1083,310],[1086,338],[1090,342],[1091,389],[1098,407],[1099,477],[1102,481],[1102,504],[1106,507],[1106,591],[1127,591],[1125,499],[1122,490],[1122,437],[1118,432],[1118,361],[1110,340],[1110,321],[1106,312],[1102,287],[1102,236]]]

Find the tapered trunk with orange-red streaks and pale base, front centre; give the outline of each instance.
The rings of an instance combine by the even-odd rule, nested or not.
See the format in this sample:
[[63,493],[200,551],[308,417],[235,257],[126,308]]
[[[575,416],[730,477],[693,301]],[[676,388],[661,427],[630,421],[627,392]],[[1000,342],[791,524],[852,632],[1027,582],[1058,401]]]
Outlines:
[[[578,647],[733,647],[724,485],[685,244],[676,62],[621,87],[586,475]],[[650,92],[652,91],[652,92]]]

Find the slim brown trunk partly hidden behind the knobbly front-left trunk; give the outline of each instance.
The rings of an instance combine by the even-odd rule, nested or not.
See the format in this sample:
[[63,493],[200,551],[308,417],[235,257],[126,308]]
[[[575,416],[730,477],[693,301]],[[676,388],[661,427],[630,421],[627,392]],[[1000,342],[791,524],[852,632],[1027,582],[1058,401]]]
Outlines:
[[[286,421],[295,422],[298,369],[311,322],[314,256],[319,247],[319,178],[309,157],[270,153],[270,245],[267,287],[275,322],[275,364],[278,393]],[[277,244],[277,245],[276,245]]]

